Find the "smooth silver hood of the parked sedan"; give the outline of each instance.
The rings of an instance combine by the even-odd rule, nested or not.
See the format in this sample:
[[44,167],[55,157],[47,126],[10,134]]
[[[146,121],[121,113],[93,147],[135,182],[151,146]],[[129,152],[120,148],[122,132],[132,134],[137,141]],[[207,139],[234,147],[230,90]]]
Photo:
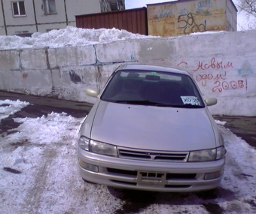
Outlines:
[[[95,115],[94,115],[95,114]],[[216,146],[206,108],[189,109],[99,101],[93,140],[136,149],[190,151]]]

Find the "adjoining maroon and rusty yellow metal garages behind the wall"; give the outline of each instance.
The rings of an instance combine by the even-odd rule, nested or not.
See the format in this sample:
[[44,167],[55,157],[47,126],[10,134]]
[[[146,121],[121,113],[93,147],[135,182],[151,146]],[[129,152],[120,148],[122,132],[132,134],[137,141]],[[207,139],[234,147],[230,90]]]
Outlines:
[[237,9],[232,0],[176,0],[125,11],[76,16],[78,28],[125,29],[154,36],[194,32],[235,32]]

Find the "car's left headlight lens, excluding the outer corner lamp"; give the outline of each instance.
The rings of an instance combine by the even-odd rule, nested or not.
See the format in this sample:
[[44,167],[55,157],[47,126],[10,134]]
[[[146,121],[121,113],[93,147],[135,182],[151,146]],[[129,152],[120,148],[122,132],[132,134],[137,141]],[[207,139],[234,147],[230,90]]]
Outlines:
[[108,143],[102,143],[96,140],[90,140],[90,152],[95,152],[101,155],[111,155],[117,157],[117,146]]

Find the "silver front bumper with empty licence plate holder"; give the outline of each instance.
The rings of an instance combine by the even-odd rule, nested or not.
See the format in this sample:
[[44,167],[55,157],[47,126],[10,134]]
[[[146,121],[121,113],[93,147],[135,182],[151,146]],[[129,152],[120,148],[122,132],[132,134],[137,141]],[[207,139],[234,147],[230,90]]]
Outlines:
[[98,155],[78,146],[78,163],[81,176],[90,182],[145,191],[184,192],[218,187],[225,160],[141,161]]

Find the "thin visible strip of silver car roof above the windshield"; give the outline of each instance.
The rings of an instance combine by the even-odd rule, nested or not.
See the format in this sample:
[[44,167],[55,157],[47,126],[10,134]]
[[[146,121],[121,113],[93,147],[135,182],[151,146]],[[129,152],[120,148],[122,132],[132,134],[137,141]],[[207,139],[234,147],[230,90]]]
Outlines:
[[178,68],[164,66],[164,65],[151,65],[151,64],[139,64],[139,63],[126,63],[123,65],[120,65],[119,68],[117,68],[116,71],[120,70],[129,70],[129,71],[164,71],[164,72],[170,72],[175,74],[188,74],[187,71],[183,71]]

